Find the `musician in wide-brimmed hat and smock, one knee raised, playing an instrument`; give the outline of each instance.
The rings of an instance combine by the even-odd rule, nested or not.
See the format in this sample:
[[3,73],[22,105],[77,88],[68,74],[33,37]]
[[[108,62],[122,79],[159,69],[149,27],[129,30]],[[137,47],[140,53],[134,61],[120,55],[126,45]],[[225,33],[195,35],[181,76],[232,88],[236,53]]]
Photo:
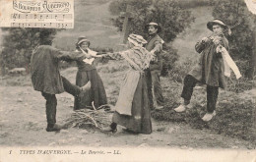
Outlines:
[[202,118],[203,121],[210,121],[216,115],[216,103],[219,94],[219,87],[224,88],[226,81],[224,77],[224,59],[218,46],[228,50],[228,41],[224,37],[224,30],[228,29],[224,22],[216,19],[207,24],[213,31],[209,37],[204,37],[195,45],[196,51],[201,53],[200,62],[196,65],[184,79],[184,86],[181,97],[183,103],[175,108],[176,112],[183,112],[189,105],[193,93],[193,87],[197,82],[207,85],[207,113]]

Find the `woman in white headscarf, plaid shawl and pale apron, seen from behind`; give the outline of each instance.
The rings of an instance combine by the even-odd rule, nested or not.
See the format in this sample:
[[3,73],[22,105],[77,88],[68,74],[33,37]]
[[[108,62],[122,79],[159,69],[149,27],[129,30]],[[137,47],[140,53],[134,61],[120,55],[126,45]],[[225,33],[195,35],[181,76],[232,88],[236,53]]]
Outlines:
[[114,133],[117,125],[121,125],[126,128],[126,131],[132,133],[152,133],[144,70],[149,68],[150,61],[154,56],[143,47],[146,43],[147,41],[141,35],[130,34],[128,37],[128,50],[107,54],[113,59],[125,59],[130,69],[121,84],[112,124],[110,127],[103,129],[105,132]]

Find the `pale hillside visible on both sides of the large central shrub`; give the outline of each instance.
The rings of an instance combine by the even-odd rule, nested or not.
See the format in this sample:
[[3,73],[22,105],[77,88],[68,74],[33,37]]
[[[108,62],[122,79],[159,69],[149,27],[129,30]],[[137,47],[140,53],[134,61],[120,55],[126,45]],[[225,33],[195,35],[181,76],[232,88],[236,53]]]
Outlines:
[[[75,48],[77,38],[85,35],[91,40],[92,47],[116,49],[122,41],[122,36],[111,24],[112,16],[108,11],[110,0],[79,0],[75,2],[75,27],[60,31],[54,40],[55,46],[72,50]],[[180,62],[186,58],[196,59],[195,43],[211,33],[206,27],[207,22],[213,19],[211,7],[192,8],[191,11],[196,18],[195,22],[171,42],[173,47],[178,50]]]

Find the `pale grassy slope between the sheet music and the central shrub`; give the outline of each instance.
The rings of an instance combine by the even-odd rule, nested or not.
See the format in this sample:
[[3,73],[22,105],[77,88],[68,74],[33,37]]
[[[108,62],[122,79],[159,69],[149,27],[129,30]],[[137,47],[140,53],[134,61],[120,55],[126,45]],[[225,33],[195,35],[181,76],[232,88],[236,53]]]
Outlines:
[[56,47],[73,50],[79,36],[87,36],[93,47],[113,47],[121,35],[111,26],[108,12],[109,0],[75,1],[75,27],[60,31],[54,44]]

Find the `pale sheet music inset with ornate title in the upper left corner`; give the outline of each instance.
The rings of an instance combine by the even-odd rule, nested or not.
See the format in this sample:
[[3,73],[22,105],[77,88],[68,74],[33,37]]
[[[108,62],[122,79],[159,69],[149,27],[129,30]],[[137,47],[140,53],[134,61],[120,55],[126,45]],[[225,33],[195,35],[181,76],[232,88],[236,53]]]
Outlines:
[[0,27],[74,28],[74,0],[1,0]]

